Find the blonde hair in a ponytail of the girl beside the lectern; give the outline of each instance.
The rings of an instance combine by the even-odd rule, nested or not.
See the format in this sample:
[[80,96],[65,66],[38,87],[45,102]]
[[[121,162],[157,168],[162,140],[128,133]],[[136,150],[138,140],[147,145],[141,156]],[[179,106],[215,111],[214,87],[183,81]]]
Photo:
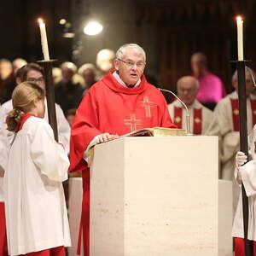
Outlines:
[[14,109],[6,117],[7,130],[18,131],[22,116],[32,109],[36,99],[44,99],[44,90],[38,84],[24,82],[15,87],[12,95]]

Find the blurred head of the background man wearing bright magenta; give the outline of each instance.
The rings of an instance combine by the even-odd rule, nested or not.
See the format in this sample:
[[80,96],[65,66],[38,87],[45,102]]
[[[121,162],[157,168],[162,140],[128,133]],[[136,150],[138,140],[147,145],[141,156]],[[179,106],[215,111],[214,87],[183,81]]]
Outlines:
[[207,70],[207,56],[197,52],[191,56],[191,69],[196,78],[201,77]]

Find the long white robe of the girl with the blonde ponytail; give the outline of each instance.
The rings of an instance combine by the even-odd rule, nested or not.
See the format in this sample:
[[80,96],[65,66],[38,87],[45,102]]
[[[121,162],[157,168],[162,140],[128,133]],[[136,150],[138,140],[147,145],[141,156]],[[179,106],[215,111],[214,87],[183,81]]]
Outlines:
[[30,117],[16,133],[4,174],[10,255],[70,246],[62,181],[69,160],[44,119]]

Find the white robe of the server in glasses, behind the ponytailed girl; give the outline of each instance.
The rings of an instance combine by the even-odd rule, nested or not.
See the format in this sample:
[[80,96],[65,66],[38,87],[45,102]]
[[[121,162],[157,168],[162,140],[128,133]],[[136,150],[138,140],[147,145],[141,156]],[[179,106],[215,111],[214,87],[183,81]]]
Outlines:
[[[48,122],[48,113],[47,113],[47,103],[46,99],[44,100],[45,103],[45,114],[44,119]],[[9,152],[10,144],[14,139],[14,132],[8,131],[7,125],[5,123],[6,114],[9,113],[13,109],[12,101],[9,100],[8,102],[3,103],[0,107],[0,140],[5,145],[6,152],[0,154],[7,154]],[[67,123],[67,119],[64,116],[64,113],[61,107],[58,104],[55,104],[56,109],[56,119],[57,119],[57,126],[58,126],[58,135],[59,135],[59,142],[62,143],[65,147],[66,153],[69,153],[69,140],[70,140],[70,126]],[[1,149],[2,150],[2,149]],[[7,160],[7,158],[5,158]],[[3,186],[1,185],[1,177],[0,177],[0,201],[3,201]]]

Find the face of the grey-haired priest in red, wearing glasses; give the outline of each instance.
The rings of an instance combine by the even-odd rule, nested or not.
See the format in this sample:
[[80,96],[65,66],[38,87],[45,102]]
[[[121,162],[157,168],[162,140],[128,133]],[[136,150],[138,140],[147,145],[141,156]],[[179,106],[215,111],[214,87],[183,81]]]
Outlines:
[[143,75],[145,59],[142,54],[128,48],[125,50],[122,60],[116,59],[114,61],[114,67],[125,84],[136,84]]

